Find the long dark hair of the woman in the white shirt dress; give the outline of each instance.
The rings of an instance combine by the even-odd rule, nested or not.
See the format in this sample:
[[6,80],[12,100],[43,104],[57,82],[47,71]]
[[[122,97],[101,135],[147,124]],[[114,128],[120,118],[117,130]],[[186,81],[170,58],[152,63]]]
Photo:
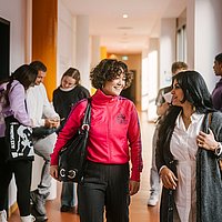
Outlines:
[[[189,101],[193,104],[198,113],[214,112],[211,94],[208,90],[203,77],[196,71],[183,71],[172,77],[173,81],[176,80],[180,88],[184,93],[182,102]],[[170,139],[175,127],[175,120],[182,110],[181,107],[172,105],[165,117],[161,120],[159,130],[159,139],[157,147],[170,144]]]

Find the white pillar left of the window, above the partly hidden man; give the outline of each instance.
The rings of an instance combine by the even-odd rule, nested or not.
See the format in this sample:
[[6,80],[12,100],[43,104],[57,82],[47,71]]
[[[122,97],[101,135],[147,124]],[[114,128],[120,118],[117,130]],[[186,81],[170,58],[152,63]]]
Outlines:
[[171,83],[171,65],[175,61],[175,19],[162,19],[160,34],[160,88]]

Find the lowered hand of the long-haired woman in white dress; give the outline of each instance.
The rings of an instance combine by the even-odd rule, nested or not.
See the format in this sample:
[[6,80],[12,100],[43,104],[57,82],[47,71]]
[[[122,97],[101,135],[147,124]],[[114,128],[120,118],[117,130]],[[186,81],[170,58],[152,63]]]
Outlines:
[[163,167],[160,171],[160,178],[162,179],[162,183],[167,189],[175,190],[178,179],[174,173],[168,168]]

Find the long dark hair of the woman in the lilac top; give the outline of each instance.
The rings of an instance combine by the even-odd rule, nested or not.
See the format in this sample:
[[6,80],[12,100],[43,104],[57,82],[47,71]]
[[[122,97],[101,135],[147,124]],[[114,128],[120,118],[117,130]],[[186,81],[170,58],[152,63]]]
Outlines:
[[6,105],[9,105],[9,91],[11,89],[11,84],[13,80],[18,80],[24,88],[24,90],[28,90],[29,87],[32,84],[34,85],[34,81],[37,79],[38,71],[29,65],[29,64],[22,64],[19,67],[9,78],[7,90],[6,90]]

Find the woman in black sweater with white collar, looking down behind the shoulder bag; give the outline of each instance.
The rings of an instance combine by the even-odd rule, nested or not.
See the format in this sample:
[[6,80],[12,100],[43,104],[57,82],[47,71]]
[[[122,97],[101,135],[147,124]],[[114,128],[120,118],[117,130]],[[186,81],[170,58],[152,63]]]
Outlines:
[[[80,84],[80,72],[74,68],[69,68],[61,78],[61,84],[53,91],[53,107],[60,115],[61,127],[64,125],[72,107],[84,98],[89,98],[90,92]],[[72,182],[62,183],[61,212],[68,212],[74,206],[75,184]]]

